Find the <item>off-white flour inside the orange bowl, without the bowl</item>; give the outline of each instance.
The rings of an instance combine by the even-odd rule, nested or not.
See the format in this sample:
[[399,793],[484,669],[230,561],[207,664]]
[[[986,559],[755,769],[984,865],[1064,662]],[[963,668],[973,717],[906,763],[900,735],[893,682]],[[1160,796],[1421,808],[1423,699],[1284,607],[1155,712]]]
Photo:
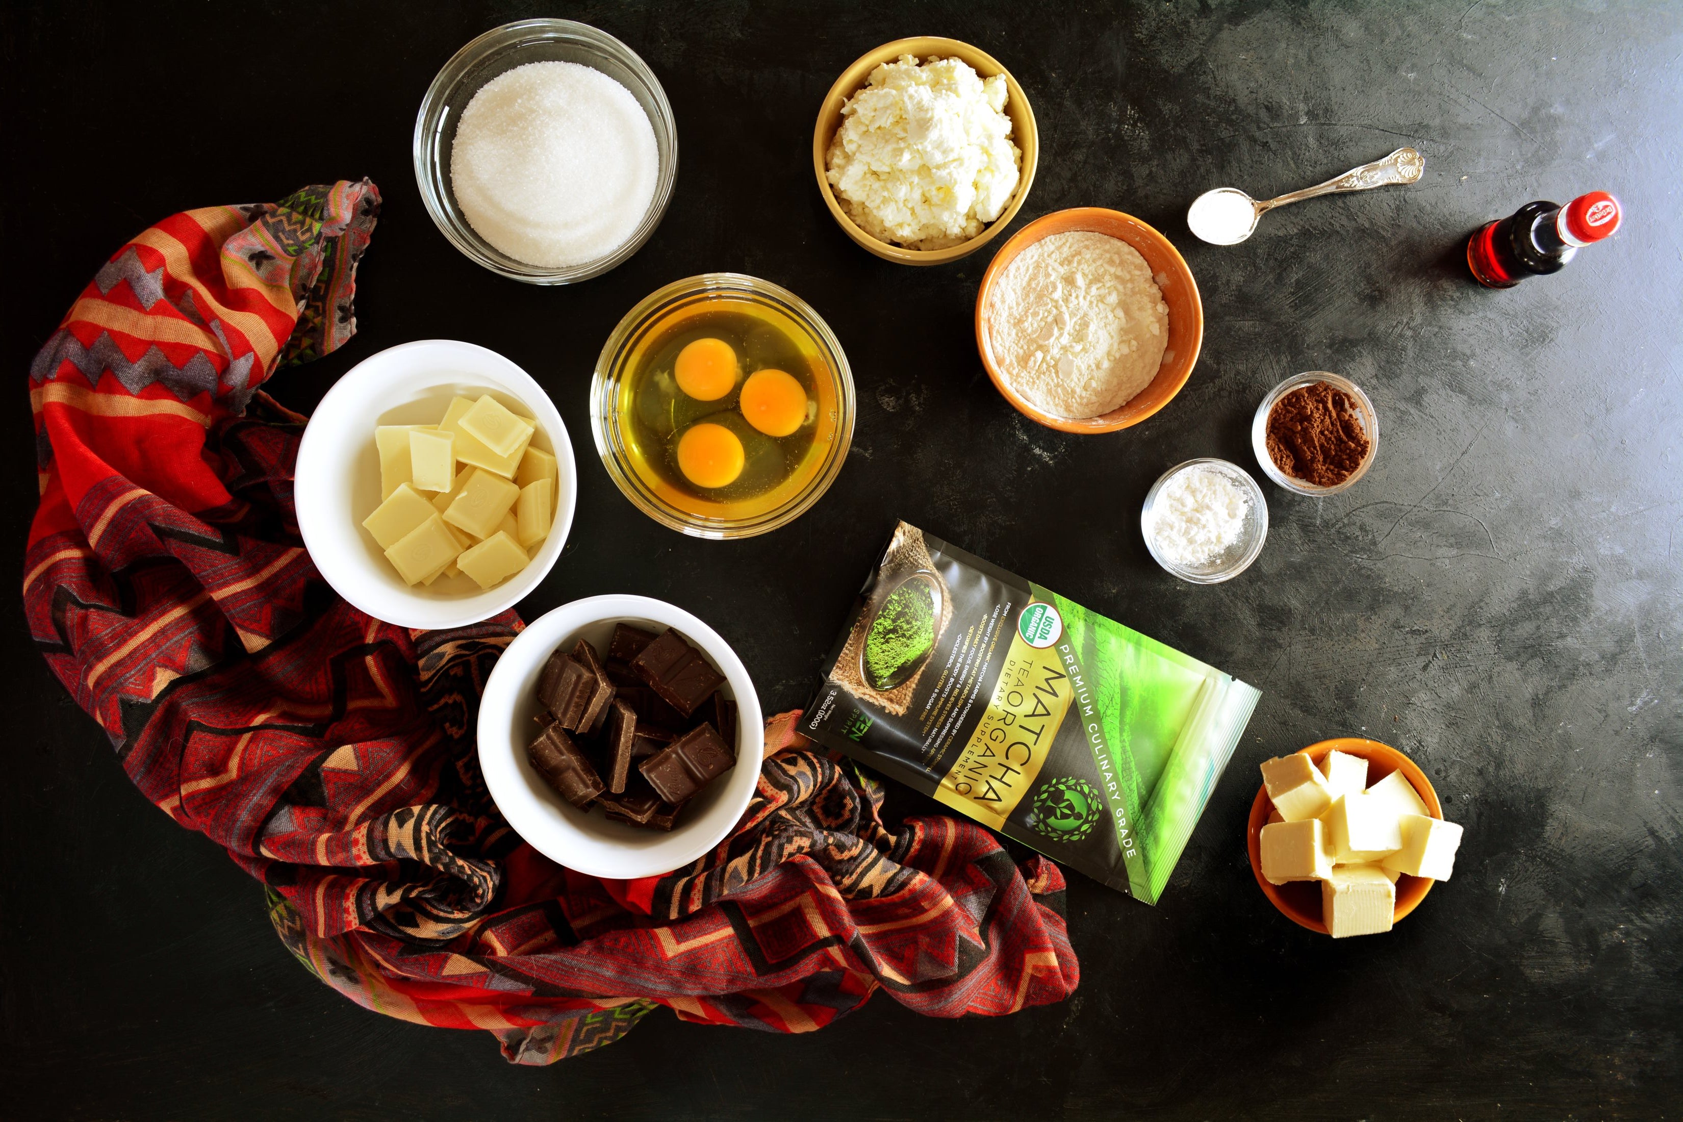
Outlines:
[[1128,242],[1052,234],[1000,274],[988,338],[1000,377],[1030,405],[1097,417],[1151,385],[1168,345],[1168,304]]

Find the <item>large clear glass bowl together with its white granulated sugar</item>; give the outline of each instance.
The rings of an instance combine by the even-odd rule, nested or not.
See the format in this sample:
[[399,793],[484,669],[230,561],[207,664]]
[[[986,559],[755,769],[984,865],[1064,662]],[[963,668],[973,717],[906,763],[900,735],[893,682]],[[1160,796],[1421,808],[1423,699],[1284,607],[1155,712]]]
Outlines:
[[416,183],[463,254],[527,284],[613,269],[650,239],[678,175],[653,71],[574,20],[495,27],[444,64],[416,116]]

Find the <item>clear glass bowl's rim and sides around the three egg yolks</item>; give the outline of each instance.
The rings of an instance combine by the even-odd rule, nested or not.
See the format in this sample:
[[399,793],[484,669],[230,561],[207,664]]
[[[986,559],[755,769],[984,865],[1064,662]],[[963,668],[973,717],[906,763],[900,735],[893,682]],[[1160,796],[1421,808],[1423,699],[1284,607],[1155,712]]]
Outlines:
[[[643,352],[656,345],[668,326],[693,315],[697,304],[724,301],[757,304],[810,358],[818,360],[813,451],[789,483],[754,500],[730,503],[734,513],[725,513],[724,503],[680,493],[640,464],[634,434],[624,424],[629,375]],[[818,363],[826,373],[818,373]],[[651,293],[608,336],[591,378],[591,434],[608,474],[655,521],[697,538],[751,538],[794,521],[830,490],[853,442],[853,370],[842,343],[804,299],[779,284],[741,273],[703,273]]]

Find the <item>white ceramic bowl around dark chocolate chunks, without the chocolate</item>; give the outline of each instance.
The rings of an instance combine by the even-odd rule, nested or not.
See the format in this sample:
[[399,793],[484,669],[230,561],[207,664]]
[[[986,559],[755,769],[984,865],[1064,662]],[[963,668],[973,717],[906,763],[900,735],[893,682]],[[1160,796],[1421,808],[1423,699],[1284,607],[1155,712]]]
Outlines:
[[[544,663],[557,648],[571,649],[579,639],[604,649],[616,622],[646,631],[677,627],[725,676],[722,691],[737,703],[737,765],[683,807],[672,833],[609,823],[601,807],[581,811],[527,762],[527,745],[537,737],[537,680]],[[592,595],[532,621],[496,659],[480,698],[480,770],[496,809],[549,860],[589,876],[656,876],[702,856],[742,819],[759,782],[764,725],[747,668],[717,631],[682,607],[646,595]]]

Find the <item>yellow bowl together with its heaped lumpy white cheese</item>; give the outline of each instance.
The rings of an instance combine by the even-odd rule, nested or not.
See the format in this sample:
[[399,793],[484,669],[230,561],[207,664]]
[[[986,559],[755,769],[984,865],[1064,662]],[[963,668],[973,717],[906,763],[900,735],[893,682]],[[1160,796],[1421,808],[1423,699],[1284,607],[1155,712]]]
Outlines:
[[[902,98],[914,86],[919,98]],[[958,133],[964,138],[954,146]],[[924,151],[927,145],[942,148]],[[1035,113],[1010,71],[968,42],[936,35],[897,39],[855,59],[813,126],[813,173],[830,215],[862,247],[899,264],[946,264],[993,241],[1028,197],[1038,158]],[[961,190],[919,183],[929,167],[959,163],[971,172]],[[882,167],[909,170],[882,175]]]

